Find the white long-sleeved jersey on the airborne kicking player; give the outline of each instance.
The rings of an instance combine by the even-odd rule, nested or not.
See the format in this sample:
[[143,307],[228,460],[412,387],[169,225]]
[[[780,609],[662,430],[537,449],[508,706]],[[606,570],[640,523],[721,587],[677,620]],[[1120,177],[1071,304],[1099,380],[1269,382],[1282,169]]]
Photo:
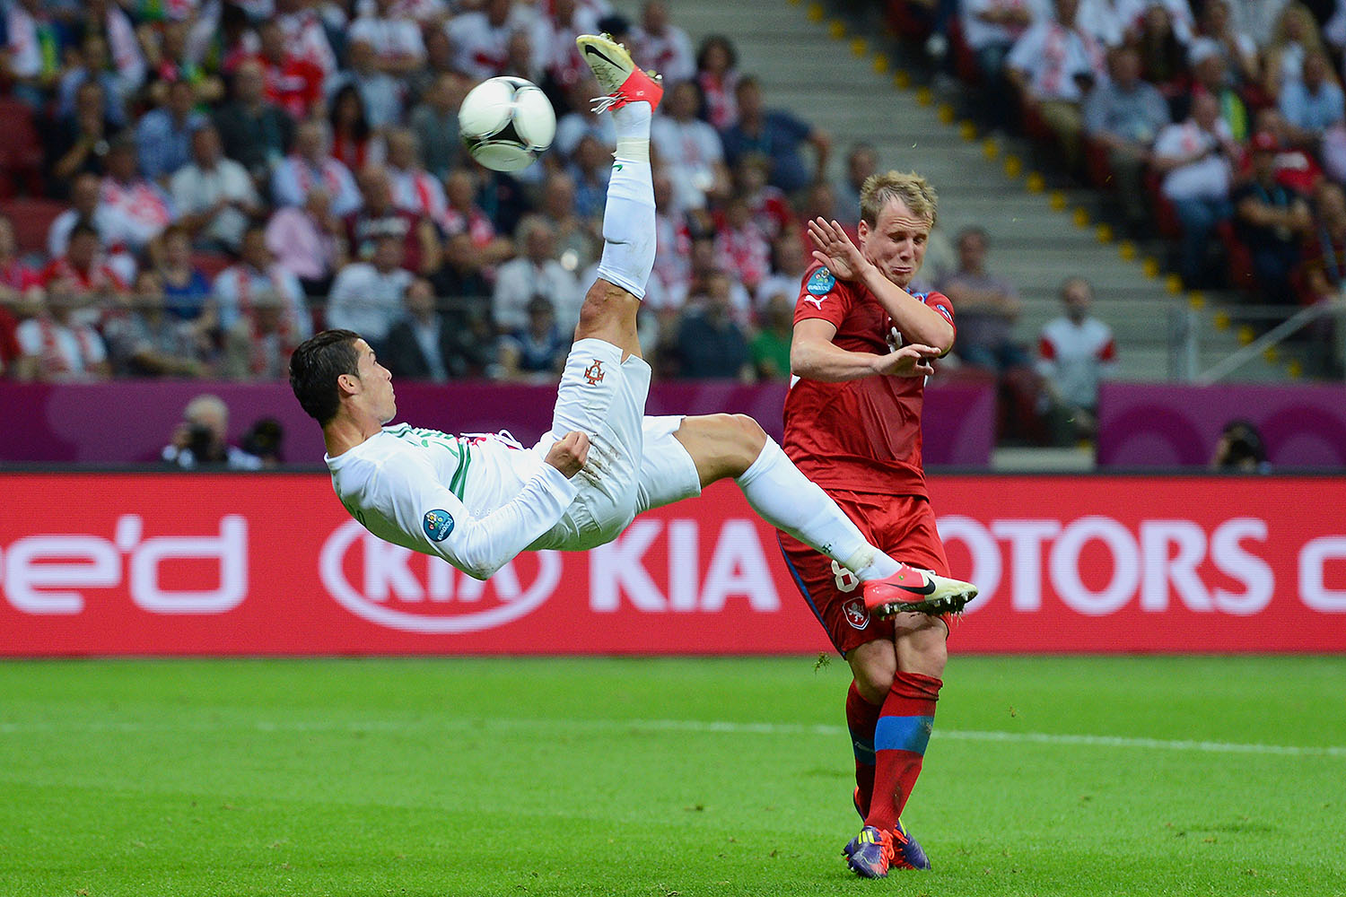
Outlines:
[[324,457],[342,504],[370,533],[486,578],[555,529],[577,484],[503,434],[406,424]]

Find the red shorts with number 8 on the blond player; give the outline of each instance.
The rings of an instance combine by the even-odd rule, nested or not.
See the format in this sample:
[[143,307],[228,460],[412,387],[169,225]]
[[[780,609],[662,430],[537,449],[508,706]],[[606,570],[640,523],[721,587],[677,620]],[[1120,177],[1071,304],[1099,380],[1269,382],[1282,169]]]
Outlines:
[[[828,495],[855,520],[864,538],[894,559],[949,576],[930,499],[845,490],[828,490]],[[892,640],[892,620],[870,617],[853,573],[785,533],[777,535],[794,584],[837,651],[845,655],[865,641]]]

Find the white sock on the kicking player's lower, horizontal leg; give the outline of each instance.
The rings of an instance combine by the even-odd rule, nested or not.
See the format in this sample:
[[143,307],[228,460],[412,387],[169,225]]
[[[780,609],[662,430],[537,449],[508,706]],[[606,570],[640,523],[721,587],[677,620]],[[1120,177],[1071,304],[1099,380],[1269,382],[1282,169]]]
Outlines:
[[898,572],[900,565],[870,545],[851,518],[794,467],[771,437],[735,481],[758,516],[828,555],[861,581]]

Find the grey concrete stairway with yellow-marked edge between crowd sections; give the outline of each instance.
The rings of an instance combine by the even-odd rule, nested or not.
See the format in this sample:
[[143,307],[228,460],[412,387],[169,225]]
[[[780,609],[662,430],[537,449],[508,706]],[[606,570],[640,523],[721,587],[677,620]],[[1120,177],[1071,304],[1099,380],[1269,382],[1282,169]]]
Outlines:
[[[639,19],[638,3],[623,0],[616,7]],[[882,167],[930,179],[940,194],[940,230],[948,238],[968,225],[984,227],[991,270],[1015,284],[1024,300],[1016,328],[1023,343],[1035,344],[1042,325],[1061,313],[1061,281],[1082,274],[1094,286],[1094,313],[1116,331],[1123,379],[1179,375],[1171,359],[1170,315],[1190,304],[1203,336],[1201,370],[1238,348],[1238,335],[1218,327],[1218,313],[1199,308],[1199,299],[1176,289],[1158,261],[1135,246],[1102,239],[1101,200],[1093,191],[1053,188],[1028,169],[1027,153],[976,133],[972,122],[957,120],[952,97],[915,83],[888,62],[875,9],[841,19],[814,0],[677,0],[670,11],[693,46],[709,34],[727,35],[740,70],[760,81],[767,106],[790,109],[832,134],[829,179],[841,176],[852,144],[870,143]],[[1285,377],[1279,364],[1263,359],[1234,374],[1259,381]]]

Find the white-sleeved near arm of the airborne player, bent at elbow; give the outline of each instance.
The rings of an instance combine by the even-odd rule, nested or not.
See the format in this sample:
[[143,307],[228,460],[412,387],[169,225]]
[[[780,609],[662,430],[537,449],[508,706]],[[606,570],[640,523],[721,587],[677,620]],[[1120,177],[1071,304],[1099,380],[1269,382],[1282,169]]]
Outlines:
[[[487,580],[513,561],[524,549],[556,526],[575,499],[577,487],[567,476],[542,464],[506,504],[485,516],[474,516],[447,487],[431,476],[406,469],[384,471],[386,488],[402,496],[392,502],[397,526],[425,554],[437,554],[476,580]],[[427,526],[427,514],[441,511],[450,519]],[[447,534],[432,538],[427,530]]]

